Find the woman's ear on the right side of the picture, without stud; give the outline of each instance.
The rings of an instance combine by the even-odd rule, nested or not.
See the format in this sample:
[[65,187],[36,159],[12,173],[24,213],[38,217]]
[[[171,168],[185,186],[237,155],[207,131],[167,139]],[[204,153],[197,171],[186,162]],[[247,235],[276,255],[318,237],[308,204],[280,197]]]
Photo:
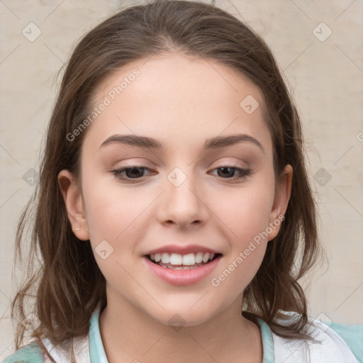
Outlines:
[[293,169],[290,164],[286,164],[277,185],[275,186],[274,203],[270,214],[269,227],[272,232],[269,233],[268,240],[274,239],[279,233],[280,226],[286,213],[287,205],[291,196]]

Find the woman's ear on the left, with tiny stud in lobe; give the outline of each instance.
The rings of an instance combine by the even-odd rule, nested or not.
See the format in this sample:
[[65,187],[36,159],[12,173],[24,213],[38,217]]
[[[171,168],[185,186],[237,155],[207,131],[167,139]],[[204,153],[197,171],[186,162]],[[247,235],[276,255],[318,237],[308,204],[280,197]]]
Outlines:
[[[82,193],[77,186],[74,176],[68,170],[62,170],[58,174],[58,184],[62,191],[68,218],[72,225],[73,233],[79,240],[89,240],[89,230],[84,212]],[[76,229],[79,230],[76,230]]]

